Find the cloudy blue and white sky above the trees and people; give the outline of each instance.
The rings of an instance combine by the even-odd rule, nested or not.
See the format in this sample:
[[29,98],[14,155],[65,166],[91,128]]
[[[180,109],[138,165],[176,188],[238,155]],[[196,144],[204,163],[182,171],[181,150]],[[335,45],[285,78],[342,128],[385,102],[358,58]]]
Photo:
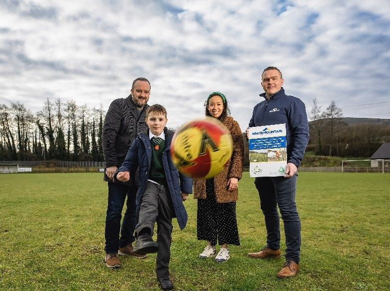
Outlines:
[[168,126],[203,115],[213,91],[244,130],[277,66],[309,111],[390,118],[389,0],[0,0],[0,103],[46,97],[106,110],[137,77]]

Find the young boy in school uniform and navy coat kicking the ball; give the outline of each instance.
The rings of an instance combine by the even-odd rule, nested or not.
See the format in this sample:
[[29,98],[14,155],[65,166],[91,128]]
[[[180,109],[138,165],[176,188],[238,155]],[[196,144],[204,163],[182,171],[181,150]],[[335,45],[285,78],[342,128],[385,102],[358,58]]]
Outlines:
[[[148,107],[148,132],[138,134],[125,162],[115,173],[116,180],[126,182],[139,167],[137,192],[137,241],[134,253],[145,255],[157,252],[156,275],[163,290],[173,289],[169,277],[172,242],[172,218],[177,217],[181,229],[186,226],[187,212],[183,201],[192,193],[192,179],[179,174],[171,160],[173,132],[168,130],[167,110],[159,104]],[[157,243],[153,241],[157,222]]]

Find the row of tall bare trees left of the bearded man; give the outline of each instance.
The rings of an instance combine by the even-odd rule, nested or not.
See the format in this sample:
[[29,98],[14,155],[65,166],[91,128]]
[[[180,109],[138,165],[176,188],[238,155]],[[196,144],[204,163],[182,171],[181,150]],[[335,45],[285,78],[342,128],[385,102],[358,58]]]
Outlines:
[[33,113],[24,104],[0,104],[0,160],[103,161],[105,112],[74,100],[52,102]]

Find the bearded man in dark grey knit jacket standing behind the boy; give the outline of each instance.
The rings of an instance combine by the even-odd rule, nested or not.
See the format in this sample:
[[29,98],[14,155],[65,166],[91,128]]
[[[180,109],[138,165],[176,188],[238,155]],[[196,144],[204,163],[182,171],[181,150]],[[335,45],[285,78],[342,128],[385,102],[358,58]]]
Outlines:
[[[133,253],[136,224],[135,198],[138,188],[137,178],[126,184],[115,183],[113,174],[122,165],[127,151],[140,132],[146,132],[146,109],[150,95],[150,82],[145,78],[133,81],[131,94],[111,102],[105,115],[102,145],[105,162],[104,181],[108,182],[108,203],[105,219],[105,264],[109,268],[121,266],[120,255],[145,256]],[[121,213],[127,196],[126,211],[122,225]],[[119,237],[120,232],[120,237]]]

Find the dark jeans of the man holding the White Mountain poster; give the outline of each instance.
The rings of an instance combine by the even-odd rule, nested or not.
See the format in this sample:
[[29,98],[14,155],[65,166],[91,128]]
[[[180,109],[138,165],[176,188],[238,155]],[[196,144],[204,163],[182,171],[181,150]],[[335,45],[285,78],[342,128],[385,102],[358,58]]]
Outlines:
[[272,250],[280,249],[279,206],[286,235],[286,260],[299,264],[300,220],[295,204],[296,179],[296,175],[291,178],[261,177],[256,178],[255,185],[267,228],[267,246]]

